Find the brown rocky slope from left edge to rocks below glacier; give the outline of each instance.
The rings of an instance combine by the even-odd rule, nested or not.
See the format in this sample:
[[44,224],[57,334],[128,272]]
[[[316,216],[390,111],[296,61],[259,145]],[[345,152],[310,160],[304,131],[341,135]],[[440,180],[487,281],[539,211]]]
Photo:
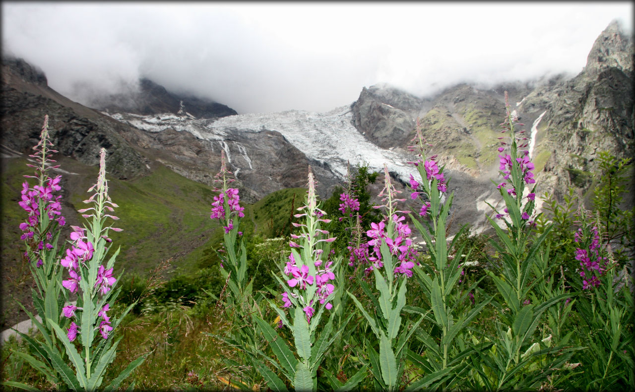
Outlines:
[[[104,147],[109,173],[118,178],[145,176],[157,164],[163,164],[191,180],[213,185],[213,175],[220,167],[219,145],[197,138],[196,131],[178,132],[182,130],[179,124],[192,121],[194,125],[185,126],[191,130],[210,119],[195,120],[194,115],[185,111],[187,108],[181,113],[177,110],[177,114],[126,114],[131,119],[146,119],[148,124],[166,124],[161,129],[139,128],[58,94],[48,87],[44,74],[23,60],[4,58],[2,75],[0,124],[4,147],[29,154],[39,138],[44,115],[48,114],[52,141],[62,155],[97,165],[98,152]],[[155,89],[164,91],[160,86]],[[167,93],[167,96],[174,95]],[[150,94],[146,101],[155,98],[156,95]],[[236,112],[230,109],[228,113]],[[138,125],[135,121],[131,123]],[[328,169],[321,169],[307,159],[277,131],[271,130],[266,135],[261,139],[253,134],[229,132],[222,139],[228,146],[228,155],[237,156],[240,161],[239,152],[248,148],[253,157],[253,171],[243,176],[247,182],[238,183],[244,188],[244,199],[253,202],[274,190],[304,186],[310,164],[318,166],[316,174],[320,181],[333,185],[333,174]],[[241,165],[249,166],[244,161]]]

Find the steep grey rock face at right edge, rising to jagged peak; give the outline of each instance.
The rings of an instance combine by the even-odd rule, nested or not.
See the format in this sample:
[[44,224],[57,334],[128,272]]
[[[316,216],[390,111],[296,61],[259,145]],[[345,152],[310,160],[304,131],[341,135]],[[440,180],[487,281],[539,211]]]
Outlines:
[[584,70],[553,89],[541,147],[549,159],[538,173],[547,190],[559,197],[573,186],[584,194],[598,152],[634,156],[633,82],[632,37],[613,22],[596,39]]

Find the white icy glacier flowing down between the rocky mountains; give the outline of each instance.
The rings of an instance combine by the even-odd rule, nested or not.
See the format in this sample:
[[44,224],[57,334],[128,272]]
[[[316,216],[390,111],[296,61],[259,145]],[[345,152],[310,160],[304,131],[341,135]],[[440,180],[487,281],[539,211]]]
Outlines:
[[[379,172],[384,170],[385,164],[389,171],[406,182],[410,178],[410,173],[417,171],[413,166],[406,164],[416,159],[412,152],[403,148],[386,150],[366,140],[352,124],[350,105],[322,113],[287,110],[231,115],[218,119],[192,119],[175,114],[102,113],[151,133],[171,128],[179,132],[189,132],[201,140],[217,141],[225,150],[229,162],[232,162],[232,154],[228,145],[228,135],[277,131],[307,158],[320,164],[328,164],[340,180],[347,175],[349,164],[355,166],[366,163],[371,171]],[[248,149],[236,141],[231,143],[236,145],[237,154],[242,155],[244,162],[248,164],[248,167],[237,167],[232,163],[236,171],[253,169]]]

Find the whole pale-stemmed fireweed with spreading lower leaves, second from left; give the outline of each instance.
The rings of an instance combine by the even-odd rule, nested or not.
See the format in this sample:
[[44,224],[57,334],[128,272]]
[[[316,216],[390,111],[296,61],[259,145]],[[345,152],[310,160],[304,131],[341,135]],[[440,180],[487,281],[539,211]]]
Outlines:
[[[102,148],[97,183],[88,190],[94,193],[88,200],[84,200],[84,203],[93,206],[78,211],[91,211],[90,214],[82,215],[86,218],[86,224],[84,227],[73,227],[74,232],[70,235],[72,242],[66,249],[66,256],[56,261],[60,268],[67,268],[68,278],[49,282],[49,287],[54,286],[54,292],[64,287],[68,291],[64,292],[64,297],[68,297],[68,294],[77,295],[76,304],[67,304],[58,309],[55,315],[45,315],[46,323],[55,332],[54,336],[63,344],[65,355],[50,350],[46,345],[38,345],[33,339],[27,339],[32,348],[38,353],[46,353],[49,358],[48,363],[32,357],[29,362],[48,377],[57,372],[57,381],[64,382],[68,388],[76,391],[94,391],[101,386],[107,367],[114,361],[117,345],[121,340],[114,341],[112,334],[134,306],[128,306],[119,317],[109,314],[110,305],[114,303],[120,289],[114,289],[117,279],[112,276],[119,249],[107,258],[112,245],[108,233],[109,230],[117,232],[121,229],[106,224],[107,219],[119,218],[109,214],[117,205],[108,195],[105,154],[105,149]],[[46,294],[48,300],[52,293]],[[40,330],[43,332],[44,340],[50,342],[53,334],[47,335],[46,330]],[[73,343],[76,340],[81,348],[79,351]],[[44,350],[44,353],[41,350]],[[145,356],[140,356],[130,363],[106,389],[117,388],[144,360]]]

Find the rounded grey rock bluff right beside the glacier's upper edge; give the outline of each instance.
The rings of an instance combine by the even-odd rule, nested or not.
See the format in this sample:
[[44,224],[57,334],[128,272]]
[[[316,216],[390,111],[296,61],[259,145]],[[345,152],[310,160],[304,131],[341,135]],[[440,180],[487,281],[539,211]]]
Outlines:
[[352,105],[353,124],[382,148],[403,145],[414,129],[423,101],[385,84],[363,88]]

